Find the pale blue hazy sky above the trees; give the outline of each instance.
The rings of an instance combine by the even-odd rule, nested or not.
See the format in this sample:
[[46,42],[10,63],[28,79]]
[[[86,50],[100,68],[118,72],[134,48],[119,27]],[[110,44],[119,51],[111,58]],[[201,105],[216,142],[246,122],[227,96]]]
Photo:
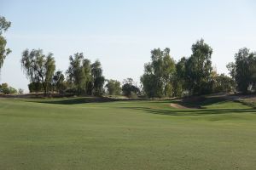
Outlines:
[[256,50],[255,8],[254,0],[0,0],[0,15],[12,22],[0,83],[28,92],[20,66],[26,48],[53,53],[64,72],[69,56],[83,52],[101,61],[107,79],[139,83],[152,49],[170,48],[178,61],[201,38],[213,48],[212,65],[228,74],[239,48]]

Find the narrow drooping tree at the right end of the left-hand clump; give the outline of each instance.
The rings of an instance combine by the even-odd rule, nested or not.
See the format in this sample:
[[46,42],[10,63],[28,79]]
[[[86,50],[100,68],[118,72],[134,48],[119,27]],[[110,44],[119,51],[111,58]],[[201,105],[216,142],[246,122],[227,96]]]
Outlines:
[[99,60],[96,60],[90,67],[93,82],[93,94],[100,96],[104,92],[103,85],[105,82],[105,77],[102,76],[102,65]]

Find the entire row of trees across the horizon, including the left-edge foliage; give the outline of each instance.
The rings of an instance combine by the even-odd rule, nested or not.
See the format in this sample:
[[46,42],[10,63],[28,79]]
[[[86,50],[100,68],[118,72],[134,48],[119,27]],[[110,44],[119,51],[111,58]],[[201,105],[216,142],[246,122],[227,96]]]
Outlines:
[[[6,48],[3,32],[11,23],[0,16],[0,69],[3,60],[11,52]],[[26,49],[22,53],[21,67],[26,73],[31,93],[68,93],[101,96],[103,94],[148,98],[183,97],[212,93],[250,94],[256,91],[256,54],[241,48],[235,54],[235,62],[227,65],[230,76],[218,74],[212,68],[212,48],[203,39],[192,45],[192,54],[177,62],[171,57],[170,49],[155,48],[151,51],[151,61],[144,65],[141,86],[131,78],[121,82],[107,80],[102,74],[99,60],[91,62],[83,53],[69,57],[67,71],[55,71],[53,54],[44,54],[42,49]],[[15,92],[13,88],[3,91]],[[3,90],[4,89],[4,90]],[[17,90],[16,90],[17,92]],[[5,93],[7,94],[7,93]]]

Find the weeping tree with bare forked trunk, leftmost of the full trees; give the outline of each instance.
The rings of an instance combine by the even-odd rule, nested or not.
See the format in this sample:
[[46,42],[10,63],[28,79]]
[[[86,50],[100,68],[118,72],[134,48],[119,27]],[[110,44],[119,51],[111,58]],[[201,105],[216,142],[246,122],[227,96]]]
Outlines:
[[55,59],[53,54],[43,54],[42,49],[26,49],[22,53],[21,67],[32,83],[42,83],[44,95],[49,92],[50,82],[55,72]]

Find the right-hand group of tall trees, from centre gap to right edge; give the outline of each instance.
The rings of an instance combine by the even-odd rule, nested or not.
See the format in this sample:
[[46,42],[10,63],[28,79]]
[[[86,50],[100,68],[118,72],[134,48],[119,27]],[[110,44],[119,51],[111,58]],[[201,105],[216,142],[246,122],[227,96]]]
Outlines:
[[144,66],[141,77],[143,92],[150,98],[182,97],[212,93],[248,94],[256,91],[256,54],[241,48],[235,63],[227,68],[230,77],[212,68],[212,48],[203,39],[192,45],[189,58],[178,62],[170,56],[170,49],[151,51],[151,62]]

